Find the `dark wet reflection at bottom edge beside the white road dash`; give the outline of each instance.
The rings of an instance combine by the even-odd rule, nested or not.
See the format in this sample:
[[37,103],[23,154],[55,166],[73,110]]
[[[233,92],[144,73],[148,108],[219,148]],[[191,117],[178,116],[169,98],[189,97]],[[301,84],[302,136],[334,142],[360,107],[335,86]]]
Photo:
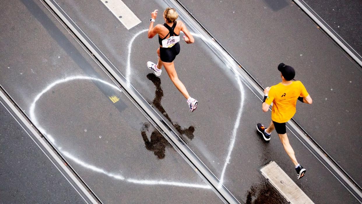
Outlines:
[[260,184],[250,187],[247,194],[246,204],[275,204],[288,203],[280,193],[275,190],[268,181],[263,180]]

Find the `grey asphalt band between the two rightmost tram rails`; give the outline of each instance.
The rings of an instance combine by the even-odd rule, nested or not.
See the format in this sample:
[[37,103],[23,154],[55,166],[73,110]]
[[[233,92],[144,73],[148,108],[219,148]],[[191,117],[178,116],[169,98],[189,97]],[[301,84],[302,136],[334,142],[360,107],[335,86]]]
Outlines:
[[262,87],[281,82],[279,63],[295,68],[313,104],[298,104],[293,118],[361,184],[361,67],[289,0],[180,1]]

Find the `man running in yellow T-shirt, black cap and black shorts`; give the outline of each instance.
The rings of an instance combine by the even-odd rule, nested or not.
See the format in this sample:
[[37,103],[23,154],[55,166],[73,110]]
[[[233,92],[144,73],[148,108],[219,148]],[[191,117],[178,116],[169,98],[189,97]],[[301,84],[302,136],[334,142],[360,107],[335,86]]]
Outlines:
[[300,179],[304,176],[306,170],[296,161],[294,150],[289,144],[285,123],[294,116],[297,100],[312,104],[312,98],[302,82],[291,81],[295,76],[293,67],[280,63],[278,70],[281,72],[282,82],[270,88],[266,87],[264,90],[263,111],[267,112],[271,102],[273,102],[270,125],[268,128],[265,128],[264,125],[258,123],[257,130],[262,134],[265,141],[270,140],[270,133],[274,129],[277,131],[284,150],[294,163],[298,179]]

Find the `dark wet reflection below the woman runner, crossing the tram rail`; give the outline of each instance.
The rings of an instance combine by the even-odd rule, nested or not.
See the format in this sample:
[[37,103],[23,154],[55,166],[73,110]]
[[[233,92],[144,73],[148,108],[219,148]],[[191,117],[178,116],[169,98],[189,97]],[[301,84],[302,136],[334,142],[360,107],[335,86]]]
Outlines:
[[[166,113],[165,109],[161,105],[161,100],[163,97],[163,90],[161,88],[161,79],[158,78],[155,74],[150,73],[147,74],[147,79],[149,79],[153,84],[155,84],[156,91],[155,91],[155,98],[152,101],[152,104],[157,110],[159,110],[163,115],[166,117],[166,119],[171,122],[171,124],[174,126],[174,128],[177,130],[177,132],[180,133],[180,136],[182,139],[183,136],[186,136],[190,140],[194,138],[194,126],[189,126],[188,128],[185,128],[183,126],[180,126],[178,122],[172,122],[171,118]],[[163,135],[158,130],[153,130],[151,133],[150,140],[148,140],[146,132],[148,132],[148,127],[150,127],[150,124],[144,123],[141,128],[141,135],[144,141],[144,145],[146,146],[147,150],[153,151],[153,153],[157,156],[159,159],[165,158],[165,148],[166,146],[172,147],[171,144],[163,137]],[[185,140],[184,140],[185,141]],[[173,149],[173,148],[172,148]]]

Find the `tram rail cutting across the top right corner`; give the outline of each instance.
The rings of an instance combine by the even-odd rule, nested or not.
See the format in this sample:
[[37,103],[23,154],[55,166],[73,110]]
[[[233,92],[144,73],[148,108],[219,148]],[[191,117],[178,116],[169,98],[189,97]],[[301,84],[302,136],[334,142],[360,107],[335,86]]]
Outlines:
[[[362,57],[355,51],[341,36],[335,32],[331,26],[327,24],[313,9],[308,6],[303,0],[293,0],[313,21],[315,21],[329,37],[331,37],[336,43],[342,47],[346,53],[348,53],[358,64],[362,67]],[[308,8],[307,8],[308,7]],[[322,22],[323,21],[323,22]],[[338,37],[337,37],[338,36]],[[343,42],[342,42],[343,41]]]

